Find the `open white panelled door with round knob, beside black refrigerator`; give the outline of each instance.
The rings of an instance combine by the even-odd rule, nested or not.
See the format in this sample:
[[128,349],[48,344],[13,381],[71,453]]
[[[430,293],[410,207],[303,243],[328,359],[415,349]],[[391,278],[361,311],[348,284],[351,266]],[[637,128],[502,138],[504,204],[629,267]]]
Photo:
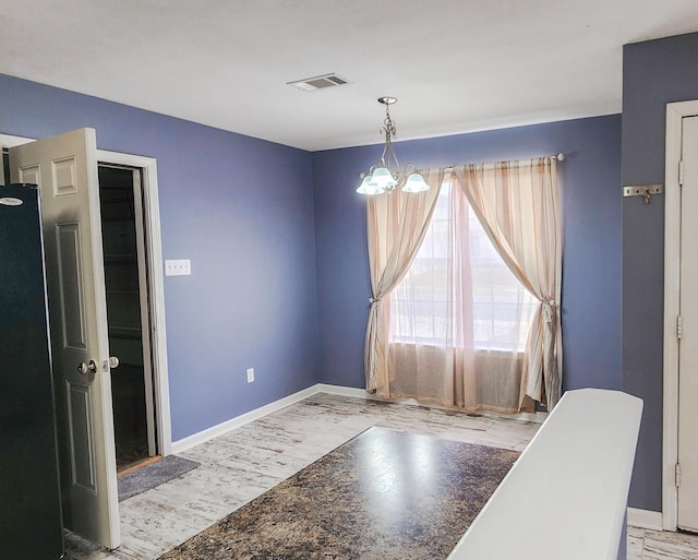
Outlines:
[[97,146],[81,129],[10,150],[13,182],[40,187],[67,528],[120,545]]

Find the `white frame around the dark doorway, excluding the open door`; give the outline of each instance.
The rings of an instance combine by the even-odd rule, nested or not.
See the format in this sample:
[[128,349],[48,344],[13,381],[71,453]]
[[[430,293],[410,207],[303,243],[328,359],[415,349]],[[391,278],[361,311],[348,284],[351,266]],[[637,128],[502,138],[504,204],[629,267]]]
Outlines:
[[[0,134],[0,145],[14,147],[35,139]],[[167,334],[165,325],[165,279],[163,274],[163,242],[160,205],[157,182],[157,162],[154,157],[97,150],[97,162],[142,169],[143,214],[147,250],[148,297],[151,300],[151,336],[153,382],[155,386],[155,422],[158,451],[163,456],[172,453],[172,425],[167,367]]]

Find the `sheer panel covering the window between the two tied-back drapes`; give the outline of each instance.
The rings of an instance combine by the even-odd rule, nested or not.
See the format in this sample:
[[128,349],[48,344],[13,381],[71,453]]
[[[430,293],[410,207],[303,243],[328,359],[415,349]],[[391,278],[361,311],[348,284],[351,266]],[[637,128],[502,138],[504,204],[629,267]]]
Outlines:
[[389,302],[390,396],[519,409],[534,299],[500,258],[455,177],[444,181],[423,243]]

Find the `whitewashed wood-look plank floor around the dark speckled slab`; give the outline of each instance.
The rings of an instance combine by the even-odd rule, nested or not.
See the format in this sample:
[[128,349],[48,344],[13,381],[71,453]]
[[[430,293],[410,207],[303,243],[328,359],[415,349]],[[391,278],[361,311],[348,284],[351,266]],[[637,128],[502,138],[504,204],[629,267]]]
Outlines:
[[[69,535],[68,558],[155,560],[371,426],[522,451],[540,425],[321,393],[180,453],[201,466],[121,502],[119,549]],[[629,528],[628,560],[666,559],[698,537]]]

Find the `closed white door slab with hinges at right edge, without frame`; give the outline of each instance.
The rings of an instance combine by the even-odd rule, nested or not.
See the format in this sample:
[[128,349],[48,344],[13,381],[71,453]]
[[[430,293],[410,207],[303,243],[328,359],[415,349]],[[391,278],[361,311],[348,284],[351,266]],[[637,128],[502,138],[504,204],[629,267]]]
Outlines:
[[678,526],[698,532],[698,117],[683,119],[678,353]]

